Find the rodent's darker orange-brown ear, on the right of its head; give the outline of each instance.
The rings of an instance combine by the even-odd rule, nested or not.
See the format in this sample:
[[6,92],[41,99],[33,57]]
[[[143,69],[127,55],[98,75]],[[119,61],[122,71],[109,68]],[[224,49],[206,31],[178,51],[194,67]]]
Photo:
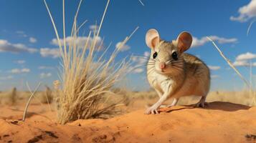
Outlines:
[[178,38],[176,39],[176,41],[178,42],[178,49],[181,53],[183,53],[184,51],[186,51],[187,49],[189,49],[189,47],[192,44],[192,36],[191,34],[189,34],[189,32],[181,32],[181,34],[179,34]]

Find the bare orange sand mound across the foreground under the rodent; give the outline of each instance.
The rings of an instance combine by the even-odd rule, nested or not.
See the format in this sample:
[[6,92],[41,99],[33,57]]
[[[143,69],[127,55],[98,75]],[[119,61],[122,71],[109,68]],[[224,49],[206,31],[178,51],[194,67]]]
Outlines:
[[212,102],[207,109],[177,106],[112,119],[27,122],[0,119],[0,142],[256,142],[256,107]]

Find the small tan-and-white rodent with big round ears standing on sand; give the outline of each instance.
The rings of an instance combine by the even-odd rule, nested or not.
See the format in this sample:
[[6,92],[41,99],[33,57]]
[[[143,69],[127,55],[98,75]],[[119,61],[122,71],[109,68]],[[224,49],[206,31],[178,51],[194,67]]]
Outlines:
[[149,29],[146,44],[151,48],[147,64],[148,82],[160,99],[145,114],[158,114],[158,107],[166,99],[174,98],[169,107],[175,106],[179,97],[196,95],[202,98],[196,107],[204,107],[210,87],[209,68],[196,56],[186,54],[192,43],[192,36],[184,31],[173,41],[160,39],[156,29]]

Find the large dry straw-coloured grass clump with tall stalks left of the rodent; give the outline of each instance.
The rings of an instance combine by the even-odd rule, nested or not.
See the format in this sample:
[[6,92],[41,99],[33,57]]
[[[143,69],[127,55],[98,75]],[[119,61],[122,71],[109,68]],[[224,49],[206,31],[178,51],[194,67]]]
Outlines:
[[[109,59],[104,58],[108,49],[95,51],[97,49],[96,40],[109,1],[97,33],[95,33],[95,30],[92,36],[91,31],[89,32],[84,47],[77,46],[75,42],[80,29],[80,27],[77,28],[77,14],[81,1],[72,26],[72,40],[68,44],[66,44],[65,39],[65,1],[63,1],[63,45],[45,0],[44,3],[54,26],[62,59],[60,82],[54,82],[58,122],[65,124],[77,119],[105,118],[115,114],[117,112],[116,107],[120,105],[120,102],[109,104],[108,101],[114,95],[111,89],[121,77],[125,76],[129,64],[125,59],[115,62],[115,56],[117,56],[120,48],[115,49]],[[120,46],[123,46],[130,37],[126,37]],[[90,39],[93,39],[93,41],[90,41]]]

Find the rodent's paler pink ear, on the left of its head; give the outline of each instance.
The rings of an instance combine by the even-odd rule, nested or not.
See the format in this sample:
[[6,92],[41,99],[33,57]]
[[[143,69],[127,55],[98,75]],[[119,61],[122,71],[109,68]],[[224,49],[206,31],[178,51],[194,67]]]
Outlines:
[[160,36],[156,29],[149,29],[146,34],[146,44],[150,48],[155,48],[160,42]]

